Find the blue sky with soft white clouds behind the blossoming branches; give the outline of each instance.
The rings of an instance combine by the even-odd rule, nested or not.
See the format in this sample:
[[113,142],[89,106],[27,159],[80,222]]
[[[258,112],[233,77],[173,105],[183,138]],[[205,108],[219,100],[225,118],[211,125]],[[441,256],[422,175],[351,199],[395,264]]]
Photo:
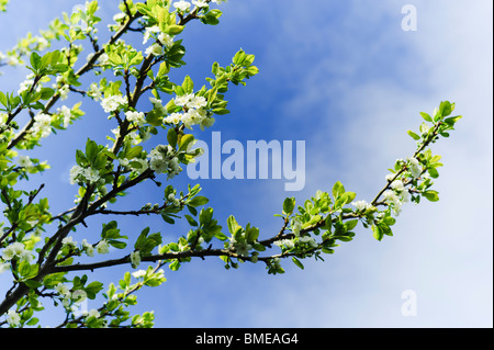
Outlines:
[[[77,3],[12,1],[0,15],[9,33],[0,50]],[[401,27],[405,4],[417,9],[416,32]],[[105,1],[102,16],[115,9]],[[371,200],[394,160],[413,153],[406,131],[417,128],[418,112],[451,100],[464,118],[434,146],[445,163],[436,184],[441,201],[405,205],[394,237],[378,242],[360,228],[325,262],[304,262],[304,271],[287,262],[287,273],[272,276],[261,264],[226,271],[218,259],[193,261],[166,271],[167,283],[143,291],[136,309],[154,309],[158,327],[492,327],[492,2],[231,0],[222,10],[218,26],[191,23],[182,34],[188,65],[173,77],[190,74],[201,86],[215,60],[227,64],[240,47],[256,55],[260,74],[228,92],[232,114],[201,136],[305,140],[306,185],[288,193],[283,180],[202,180],[220,221],[234,214],[271,235],[285,196],[303,201],[337,180]],[[25,72],[3,71],[0,89],[16,90]],[[54,212],[71,203],[75,149],[88,135],[102,142],[108,134],[101,109],[83,109],[72,131],[33,153],[52,165],[32,185],[47,183]],[[173,183],[188,182],[183,174]],[[155,193],[149,185],[130,201],[156,202]],[[101,222],[92,224],[98,232]],[[147,225],[161,224],[125,218],[121,226],[138,233]],[[180,228],[162,228],[165,239]],[[401,313],[406,290],[416,292],[416,316]]]

